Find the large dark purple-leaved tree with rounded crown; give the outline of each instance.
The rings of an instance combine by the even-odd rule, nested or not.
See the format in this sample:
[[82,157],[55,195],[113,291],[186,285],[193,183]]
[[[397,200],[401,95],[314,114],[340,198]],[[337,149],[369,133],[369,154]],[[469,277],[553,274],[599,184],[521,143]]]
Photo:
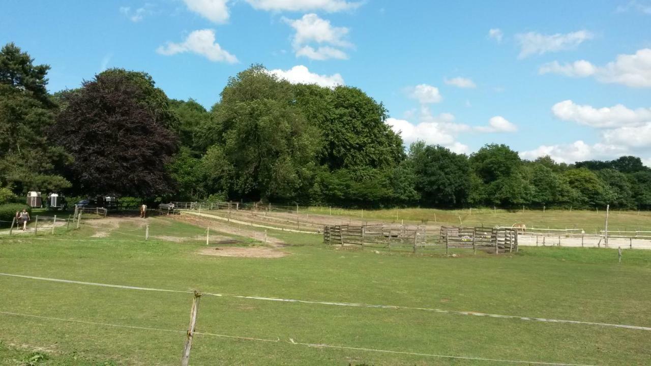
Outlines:
[[111,69],[66,97],[51,139],[74,156],[79,194],[152,197],[173,193],[167,163],[178,126],[163,91],[143,72]]

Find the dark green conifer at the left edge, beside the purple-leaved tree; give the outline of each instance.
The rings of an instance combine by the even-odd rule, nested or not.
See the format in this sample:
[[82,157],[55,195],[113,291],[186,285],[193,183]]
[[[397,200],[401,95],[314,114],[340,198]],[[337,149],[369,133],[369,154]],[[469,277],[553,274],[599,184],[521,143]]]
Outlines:
[[0,186],[23,193],[70,186],[59,174],[70,156],[44,133],[56,111],[46,89],[49,66],[33,61],[13,43],[0,51]]

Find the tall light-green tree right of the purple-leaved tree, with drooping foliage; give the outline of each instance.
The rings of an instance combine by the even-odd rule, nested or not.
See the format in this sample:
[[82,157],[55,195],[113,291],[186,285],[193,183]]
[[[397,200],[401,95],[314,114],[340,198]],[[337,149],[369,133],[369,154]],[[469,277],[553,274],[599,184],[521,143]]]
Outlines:
[[224,189],[247,199],[294,199],[309,182],[319,132],[296,106],[288,81],[254,65],[229,79],[201,143],[218,145],[232,175]]

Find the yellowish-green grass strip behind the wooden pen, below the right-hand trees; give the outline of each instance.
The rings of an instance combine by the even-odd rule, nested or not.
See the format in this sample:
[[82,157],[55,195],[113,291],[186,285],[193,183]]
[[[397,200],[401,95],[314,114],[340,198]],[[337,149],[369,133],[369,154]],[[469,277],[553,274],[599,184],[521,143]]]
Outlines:
[[[527,227],[549,227],[551,229],[572,229],[574,227],[595,231],[603,229],[605,210],[493,210],[472,208],[464,210],[439,210],[436,208],[393,208],[380,210],[361,210],[329,208],[324,206],[301,208],[301,212],[312,212],[350,218],[378,219],[387,221],[447,223],[464,226],[474,225],[513,225],[525,223]],[[651,230],[651,212],[611,210],[609,214],[611,229]]]

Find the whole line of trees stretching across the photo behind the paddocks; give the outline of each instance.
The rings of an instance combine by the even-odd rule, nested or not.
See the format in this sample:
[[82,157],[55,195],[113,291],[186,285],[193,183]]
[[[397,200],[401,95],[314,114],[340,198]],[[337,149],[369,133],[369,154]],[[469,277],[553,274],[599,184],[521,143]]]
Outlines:
[[406,149],[389,111],[360,89],[292,84],[258,64],[230,77],[210,110],[120,68],[50,94],[48,70],[15,44],[0,51],[5,196],[651,208],[640,158],[565,164],[522,160],[506,145],[469,156],[422,141]]

